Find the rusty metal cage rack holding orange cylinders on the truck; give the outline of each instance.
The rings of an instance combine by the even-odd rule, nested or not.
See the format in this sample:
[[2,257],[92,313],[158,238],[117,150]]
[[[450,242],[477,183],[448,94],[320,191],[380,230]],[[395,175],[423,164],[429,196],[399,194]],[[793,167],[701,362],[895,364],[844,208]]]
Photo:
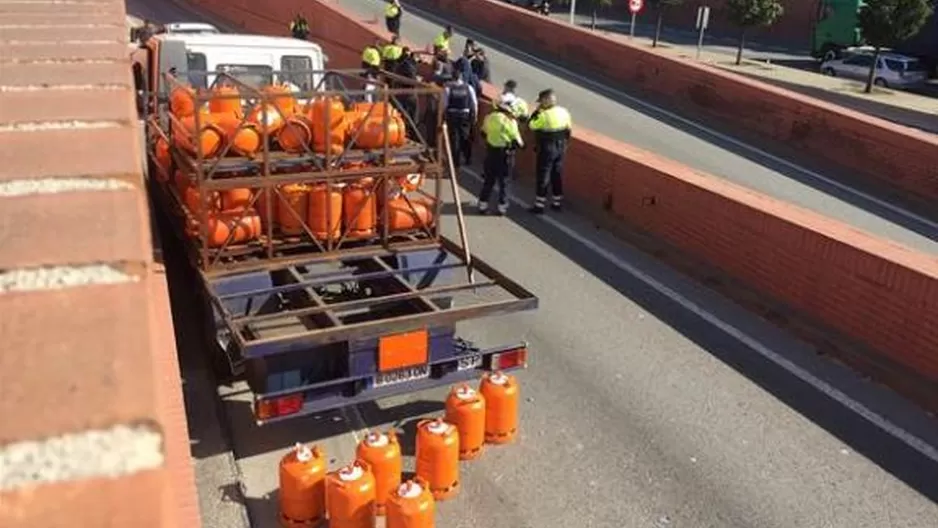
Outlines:
[[[272,72],[271,79],[289,79],[297,76],[317,79],[311,89],[275,92],[268,87],[257,87],[239,79],[237,75],[222,72],[188,72],[188,78],[198,76],[212,78],[207,89],[192,89],[170,73],[164,73],[164,89],[159,93],[147,94],[150,113],[146,120],[148,146],[151,159],[158,160],[159,143],[168,150],[168,164],[163,167],[163,181],[158,185],[158,200],[171,214],[171,221],[177,232],[188,232],[188,250],[197,267],[204,272],[249,270],[258,266],[275,266],[291,262],[310,262],[316,259],[342,259],[346,257],[380,256],[396,251],[405,251],[422,247],[439,247],[441,234],[439,218],[443,202],[443,180],[449,178],[455,189],[455,175],[449,166],[447,149],[438,149],[446,142],[445,125],[442,116],[442,90],[430,84],[384,73],[381,84],[368,89],[363,71],[325,70],[325,71],[290,71]],[[220,93],[216,88],[233,88],[230,93]],[[187,100],[192,110],[185,118],[171,111],[174,96]],[[310,141],[301,142],[301,149],[292,152],[278,151],[272,148],[280,139],[277,130],[265,123],[290,123],[294,115],[284,110],[284,99],[289,98],[300,106],[306,102],[302,115],[308,116],[308,108],[314,101],[341,101],[344,108],[358,110],[358,118],[353,120],[345,131],[345,140],[341,149],[333,149],[329,136],[332,129],[333,107],[325,106],[322,123],[306,122],[310,125],[307,132]],[[362,100],[368,98],[370,102]],[[435,115],[430,119],[417,119],[416,113],[405,111],[401,101],[409,98],[415,106],[433,109]],[[250,154],[235,151],[234,142],[222,140],[214,153],[203,151],[200,134],[212,129],[211,115],[203,113],[203,108],[213,101],[238,100],[242,112],[237,115],[237,125],[228,130],[228,135],[240,134],[252,128],[259,132],[260,142],[256,152]],[[362,111],[362,109],[366,109]],[[251,113],[254,112],[254,121]],[[348,115],[348,114],[345,114]],[[355,115],[355,114],[353,114]],[[185,122],[185,119],[188,122]],[[397,123],[394,120],[397,119]],[[421,123],[432,124],[427,131],[421,130]],[[381,145],[359,146],[359,137],[366,125],[372,127],[380,123],[379,137]],[[392,142],[391,128],[398,127],[398,134],[403,140]],[[323,127],[317,131],[316,127]],[[345,126],[343,124],[342,126]],[[403,130],[401,127],[403,126]],[[216,127],[217,128],[217,127]],[[280,130],[283,130],[282,128]],[[406,132],[405,132],[406,131]],[[427,132],[432,135],[427,139]],[[314,148],[312,141],[317,134],[325,137],[325,148]],[[188,141],[190,148],[185,148]],[[194,147],[194,148],[191,148]],[[429,189],[420,187],[400,189],[399,201],[406,204],[407,214],[420,218],[418,207],[423,206],[429,212],[430,222],[418,222],[413,229],[393,231],[390,229],[389,193],[401,187],[401,178],[406,175],[420,175]],[[178,181],[179,177],[186,181]],[[285,198],[287,186],[301,184],[321,188],[328,195],[338,192],[356,182],[368,181],[365,188],[368,200],[377,201],[377,222],[374,233],[368,236],[353,236],[347,223],[353,223],[368,206],[362,200],[356,211],[343,211],[343,219],[338,229],[327,229],[325,236],[314,233],[308,218],[304,217],[293,204]],[[196,203],[187,203],[182,196],[182,189],[190,186],[197,196]],[[218,193],[236,189],[249,189],[250,201],[241,209],[239,215],[233,215],[229,221],[233,225],[241,222],[245,216],[258,208],[272,211],[280,208],[287,211],[300,227],[299,232],[290,234],[280,232],[274,222],[267,221],[261,233],[252,240],[235,243],[236,229],[230,229],[225,240],[218,244],[209,241],[210,203]],[[334,217],[331,210],[332,200],[326,200],[324,211],[327,219]],[[464,230],[461,209],[458,208],[459,226]],[[197,228],[197,229],[196,229]],[[463,233],[463,239],[465,236]],[[468,252],[466,252],[468,258]]]

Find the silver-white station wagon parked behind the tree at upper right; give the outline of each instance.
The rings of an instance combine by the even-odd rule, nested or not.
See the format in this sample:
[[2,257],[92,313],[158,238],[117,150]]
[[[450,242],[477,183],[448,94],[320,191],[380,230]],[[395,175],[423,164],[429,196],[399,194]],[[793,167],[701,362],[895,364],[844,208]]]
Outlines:
[[[848,51],[840,58],[822,62],[821,73],[866,81],[872,65],[872,52]],[[873,73],[873,83],[884,88],[907,88],[923,84],[927,79],[928,69],[922,61],[897,53],[880,53]]]

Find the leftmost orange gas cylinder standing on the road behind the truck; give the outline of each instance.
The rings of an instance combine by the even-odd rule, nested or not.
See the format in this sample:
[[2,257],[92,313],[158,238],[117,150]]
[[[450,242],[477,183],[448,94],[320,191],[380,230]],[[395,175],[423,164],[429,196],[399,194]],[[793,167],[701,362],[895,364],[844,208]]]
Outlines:
[[318,526],[326,516],[325,454],[296,447],[280,460],[280,525],[289,528]]

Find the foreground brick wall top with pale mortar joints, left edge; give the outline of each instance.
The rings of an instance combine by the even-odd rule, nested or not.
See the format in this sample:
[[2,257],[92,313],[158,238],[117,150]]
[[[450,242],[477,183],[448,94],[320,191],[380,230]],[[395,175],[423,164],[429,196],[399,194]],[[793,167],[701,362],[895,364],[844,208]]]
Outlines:
[[120,0],[0,2],[0,526],[198,527]]

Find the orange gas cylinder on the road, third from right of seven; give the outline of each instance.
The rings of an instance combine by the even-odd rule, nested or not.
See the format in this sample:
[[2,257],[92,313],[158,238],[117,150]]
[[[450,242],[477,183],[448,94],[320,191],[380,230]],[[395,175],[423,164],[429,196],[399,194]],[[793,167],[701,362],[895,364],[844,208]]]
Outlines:
[[417,424],[417,476],[427,481],[436,500],[459,491],[459,432],[442,419]]

